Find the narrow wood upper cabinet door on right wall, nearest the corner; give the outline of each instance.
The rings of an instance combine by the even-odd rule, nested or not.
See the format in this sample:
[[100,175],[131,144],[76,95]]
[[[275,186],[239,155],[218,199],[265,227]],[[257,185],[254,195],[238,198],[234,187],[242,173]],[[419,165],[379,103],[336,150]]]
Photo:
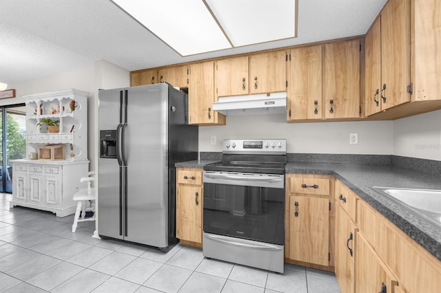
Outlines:
[[381,111],[381,16],[365,39],[365,116]]

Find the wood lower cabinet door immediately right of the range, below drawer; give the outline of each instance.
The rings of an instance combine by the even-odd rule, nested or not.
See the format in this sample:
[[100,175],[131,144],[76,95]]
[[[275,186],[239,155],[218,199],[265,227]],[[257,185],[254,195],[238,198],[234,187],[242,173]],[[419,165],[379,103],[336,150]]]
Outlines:
[[289,258],[329,265],[329,199],[291,195]]

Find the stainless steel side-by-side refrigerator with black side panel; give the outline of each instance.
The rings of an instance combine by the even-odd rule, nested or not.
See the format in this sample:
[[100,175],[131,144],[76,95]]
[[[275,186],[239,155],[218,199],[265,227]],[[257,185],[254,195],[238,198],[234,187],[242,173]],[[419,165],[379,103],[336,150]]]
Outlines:
[[176,162],[197,160],[187,94],[167,83],[99,91],[99,235],[167,250],[176,239]]

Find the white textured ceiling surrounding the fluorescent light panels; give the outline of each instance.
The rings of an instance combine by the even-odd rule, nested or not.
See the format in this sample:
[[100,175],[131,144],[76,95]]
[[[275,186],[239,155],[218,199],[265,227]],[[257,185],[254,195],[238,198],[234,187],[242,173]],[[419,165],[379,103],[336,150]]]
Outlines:
[[298,0],[296,39],[181,57],[110,0],[0,0],[0,81],[70,72],[101,59],[132,71],[356,36],[367,32],[385,2]]

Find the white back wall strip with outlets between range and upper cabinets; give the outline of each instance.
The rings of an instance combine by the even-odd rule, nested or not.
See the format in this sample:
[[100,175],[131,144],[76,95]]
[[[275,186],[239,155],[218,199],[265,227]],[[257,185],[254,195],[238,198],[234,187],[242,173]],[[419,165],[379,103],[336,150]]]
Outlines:
[[[358,133],[358,144],[349,144]],[[216,136],[216,145],[210,144]],[[199,127],[199,151],[222,151],[228,138],[286,138],[288,153],[393,153],[393,122],[287,123],[285,115],[228,116],[226,126]]]

